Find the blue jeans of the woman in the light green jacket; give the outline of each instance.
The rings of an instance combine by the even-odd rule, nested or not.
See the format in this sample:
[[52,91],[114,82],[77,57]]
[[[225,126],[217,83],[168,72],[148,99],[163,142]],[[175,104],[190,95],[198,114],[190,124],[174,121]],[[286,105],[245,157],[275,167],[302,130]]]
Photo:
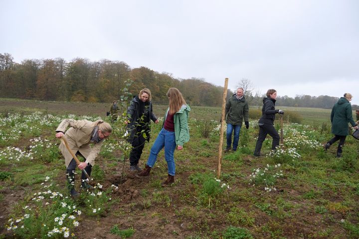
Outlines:
[[165,147],[165,159],[167,161],[167,168],[169,175],[175,176],[176,166],[174,153],[176,149],[176,136],[175,132],[167,131],[164,128],[157,136],[155,143],[153,144],[150,152],[150,156],[147,160],[147,165],[153,168],[156,163],[157,155]]

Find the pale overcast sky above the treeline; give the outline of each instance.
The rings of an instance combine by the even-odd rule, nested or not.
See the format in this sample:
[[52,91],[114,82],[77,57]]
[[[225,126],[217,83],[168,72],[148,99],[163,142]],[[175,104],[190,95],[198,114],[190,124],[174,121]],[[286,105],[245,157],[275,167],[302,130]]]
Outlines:
[[359,105],[359,0],[0,0],[0,53],[124,61]]

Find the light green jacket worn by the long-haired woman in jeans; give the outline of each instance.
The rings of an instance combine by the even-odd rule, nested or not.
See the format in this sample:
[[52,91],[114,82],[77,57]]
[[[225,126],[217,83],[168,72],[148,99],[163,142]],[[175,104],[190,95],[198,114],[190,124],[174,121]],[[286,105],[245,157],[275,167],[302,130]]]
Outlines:
[[[164,124],[169,110],[170,108],[168,108],[166,111]],[[188,128],[189,111],[190,111],[189,105],[187,104],[182,105],[179,111],[174,115],[176,145],[183,146],[184,143],[189,141],[189,128]]]

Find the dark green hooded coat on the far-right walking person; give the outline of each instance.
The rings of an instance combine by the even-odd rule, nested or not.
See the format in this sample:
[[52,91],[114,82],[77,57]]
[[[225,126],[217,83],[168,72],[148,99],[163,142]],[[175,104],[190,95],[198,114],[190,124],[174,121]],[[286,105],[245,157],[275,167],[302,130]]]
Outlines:
[[354,127],[356,123],[353,120],[352,105],[349,101],[341,97],[333,106],[331,113],[332,133],[335,135],[349,135],[348,123]]

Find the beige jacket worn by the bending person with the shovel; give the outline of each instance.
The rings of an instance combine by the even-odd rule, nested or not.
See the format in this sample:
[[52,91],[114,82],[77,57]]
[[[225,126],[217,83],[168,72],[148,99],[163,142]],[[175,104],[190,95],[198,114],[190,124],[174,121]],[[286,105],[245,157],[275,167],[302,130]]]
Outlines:
[[[100,122],[102,121],[91,122],[88,120],[64,119],[57,127],[56,132],[63,132],[71,151],[74,154],[76,154],[77,151],[80,152],[82,156],[85,157],[85,162],[90,163],[93,166],[95,165],[95,158],[100,152],[103,141],[97,144],[95,143],[92,147],[90,147],[90,139],[92,130]],[[67,127],[70,128],[66,131]],[[65,157],[65,164],[66,167],[68,167],[72,160],[71,154],[62,142],[59,149]]]

